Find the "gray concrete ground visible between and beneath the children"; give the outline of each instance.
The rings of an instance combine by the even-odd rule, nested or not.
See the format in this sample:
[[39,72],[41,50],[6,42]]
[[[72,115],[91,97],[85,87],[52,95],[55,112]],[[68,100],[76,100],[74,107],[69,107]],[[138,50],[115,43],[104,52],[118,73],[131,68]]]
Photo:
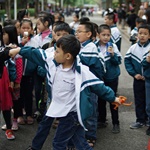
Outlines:
[[[68,23],[71,22],[71,17],[66,18]],[[100,25],[103,23],[103,18],[96,15],[90,17],[91,21]],[[127,31],[122,32],[122,49],[121,53],[124,56],[130,46]],[[124,95],[128,98],[128,102],[133,101],[132,90],[132,78],[127,74],[124,68],[124,64],[121,65],[121,75],[119,80],[118,95]],[[146,150],[149,136],[145,134],[147,127],[140,129],[130,129],[129,125],[135,121],[134,103],[131,107],[120,106],[119,118],[121,132],[119,134],[111,133],[111,115],[108,107],[108,126],[106,128],[97,130],[97,142],[94,150]],[[3,117],[0,117],[0,126],[3,125]],[[14,141],[8,141],[5,138],[5,132],[0,130],[0,150],[25,150],[32,141],[38,124],[34,125],[20,125],[19,130],[15,132],[16,139]],[[55,129],[51,129],[50,134],[43,146],[43,150],[52,149],[52,138],[54,136]]]

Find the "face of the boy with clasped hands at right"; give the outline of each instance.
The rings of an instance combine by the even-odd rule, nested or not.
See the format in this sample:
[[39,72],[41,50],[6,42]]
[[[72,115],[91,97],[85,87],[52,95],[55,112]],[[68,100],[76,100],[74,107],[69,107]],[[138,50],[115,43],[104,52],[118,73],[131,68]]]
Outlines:
[[148,29],[140,28],[138,31],[138,39],[141,44],[144,44],[150,38],[150,33]]

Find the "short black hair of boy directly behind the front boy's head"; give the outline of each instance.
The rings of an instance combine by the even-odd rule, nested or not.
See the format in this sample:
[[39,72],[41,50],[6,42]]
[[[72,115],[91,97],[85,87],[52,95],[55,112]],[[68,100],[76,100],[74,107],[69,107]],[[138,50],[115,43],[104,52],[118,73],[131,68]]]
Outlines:
[[70,28],[69,24],[66,22],[62,22],[62,23],[56,25],[54,32],[56,33],[58,31],[65,31],[65,32],[68,32],[69,34],[71,34],[71,28]]

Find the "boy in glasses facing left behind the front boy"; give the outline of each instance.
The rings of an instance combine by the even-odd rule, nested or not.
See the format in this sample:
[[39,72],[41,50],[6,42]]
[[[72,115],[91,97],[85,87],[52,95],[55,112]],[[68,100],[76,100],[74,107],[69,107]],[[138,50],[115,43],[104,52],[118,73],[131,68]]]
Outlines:
[[[76,38],[81,43],[81,50],[79,57],[81,62],[88,66],[90,71],[99,79],[103,79],[104,68],[99,59],[99,53],[96,45],[93,43],[92,38],[95,34],[94,25],[92,22],[81,22],[76,30]],[[91,103],[94,110],[93,116],[89,118],[88,131],[86,138],[90,146],[94,146],[96,142],[97,131],[97,95],[91,94]]]

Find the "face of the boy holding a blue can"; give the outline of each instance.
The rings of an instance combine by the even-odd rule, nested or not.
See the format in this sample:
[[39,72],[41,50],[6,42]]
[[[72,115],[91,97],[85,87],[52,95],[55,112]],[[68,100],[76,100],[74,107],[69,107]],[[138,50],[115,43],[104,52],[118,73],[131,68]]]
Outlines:
[[111,37],[110,30],[103,29],[103,31],[98,34],[98,37],[100,39],[101,45],[105,45],[110,40]]

